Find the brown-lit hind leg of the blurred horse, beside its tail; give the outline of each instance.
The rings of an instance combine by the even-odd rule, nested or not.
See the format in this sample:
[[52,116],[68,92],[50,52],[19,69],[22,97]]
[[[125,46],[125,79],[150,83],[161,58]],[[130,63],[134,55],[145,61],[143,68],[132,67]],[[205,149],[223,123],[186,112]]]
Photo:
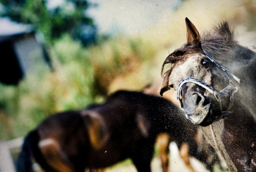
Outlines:
[[65,153],[60,149],[60,145],[55,140],[44,139],[38,145],[43,157],[54,169],[65,172],[74,171]]

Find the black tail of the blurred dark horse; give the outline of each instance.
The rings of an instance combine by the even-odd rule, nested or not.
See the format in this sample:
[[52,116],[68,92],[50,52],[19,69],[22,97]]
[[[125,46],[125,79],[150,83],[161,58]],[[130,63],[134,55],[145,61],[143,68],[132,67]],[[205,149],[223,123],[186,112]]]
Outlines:
[[38,148],[39,134],[36,130],[31,131],[23,141],[21,151],[16,162],[17,172],[33,172],[33,156],[38,164],[46,171],[54,171],[45,161],[43,154]]

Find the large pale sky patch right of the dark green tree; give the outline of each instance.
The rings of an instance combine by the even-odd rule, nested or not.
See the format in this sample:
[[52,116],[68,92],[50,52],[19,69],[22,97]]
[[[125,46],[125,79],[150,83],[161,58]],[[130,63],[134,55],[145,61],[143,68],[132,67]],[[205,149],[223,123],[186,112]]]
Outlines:
[[90,0],[89,2],[98,4],[98,7],[90,8],[87,14],[92,16],[99,27],[99,32],[123,32],[132,35],[149,27],[161,14],[173,10],[179,5],[180,0]]

